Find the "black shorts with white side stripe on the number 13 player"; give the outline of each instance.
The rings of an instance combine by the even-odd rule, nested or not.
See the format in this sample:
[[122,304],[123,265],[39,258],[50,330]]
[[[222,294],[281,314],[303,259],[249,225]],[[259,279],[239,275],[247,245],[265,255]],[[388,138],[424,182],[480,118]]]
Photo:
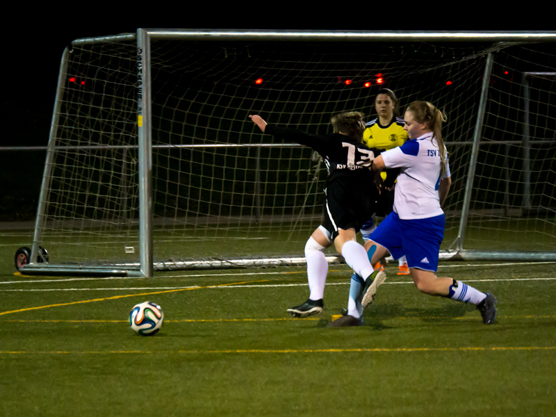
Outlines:
[[332,240],[338,236],[338,229],[354,229],[357,233],[375,213],[378,193],[373,192],[373,187],[373,183],[357,186],[334,181],[325,188],[322,226],[329,231]]

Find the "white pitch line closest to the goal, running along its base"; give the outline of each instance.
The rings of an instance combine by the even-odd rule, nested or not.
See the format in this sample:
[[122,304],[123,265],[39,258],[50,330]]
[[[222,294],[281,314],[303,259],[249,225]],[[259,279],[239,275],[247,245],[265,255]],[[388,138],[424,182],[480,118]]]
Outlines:
[[[464,265],[439,265],[439,269],[442,268],[477,268],[482,266],[515,266],[515,265],[542,265],[542,264],[555,264],[554,261],[546,262],[513,262],[513,263],[483,263],[477,265],[476,263],[466,263]],[[350,270],[347,268],[345,270],[330,270],[329,272],[346,272],[349,273]],[[186,274],[186,275],[165,275],[164,277],[156,277],[157,281],[161,279],[172,279],[172,278],[201,278],[201,277],[246,277],[248,275],[292,275],[292,274],[304,274],[305,271],[282,271],[282,272],[234,272],[234,273],[224,273],[224,274]],[[20,279],[18,281],[0,281],[0,284],[36,284],[38,282],[67,282],[67,281],[102,281],[102,280],[112,280],[112,279],[144,279],[137,277],[95,277],[95,278],[64,278],[64,279]]]

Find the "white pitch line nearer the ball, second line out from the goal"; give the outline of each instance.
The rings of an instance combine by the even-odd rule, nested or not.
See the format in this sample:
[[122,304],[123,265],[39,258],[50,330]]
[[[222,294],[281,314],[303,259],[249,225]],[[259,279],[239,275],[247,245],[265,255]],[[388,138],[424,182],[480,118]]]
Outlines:
[[[538,278],[481,278],[481,279],[466,279],[465,282],[486,282],[486,281],[555,281],[556,277],[538,277]],[[397,281],[389,282],[386,281],[382,285],[386,284],[413,284],[413,281]],[[347,285],[350,281],[345,282],[329,282],[327,286],[330,285]],[[294,287],[294,286],[307,286],[306,283],[297,284],[256,284],[256,285],[213,285],[206,286],[206,288],[277,288],[277,287]],[[185,290],[188,288],[199,288],[199,286],[170,286],[170,287],[133,287],[133,288],[27,288],[27,289],[0,289],[0,293],[8,292],[46,292],[46,291],[145,291],[145,290]]]

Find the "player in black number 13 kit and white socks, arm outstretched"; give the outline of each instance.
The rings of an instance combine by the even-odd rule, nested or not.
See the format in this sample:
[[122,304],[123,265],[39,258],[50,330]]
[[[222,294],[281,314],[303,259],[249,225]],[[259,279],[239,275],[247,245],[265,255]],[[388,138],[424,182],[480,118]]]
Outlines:
[[[378,197],[371,165],[380,152],[361,142],[366,129],[363,114],[349,112],[335,115],[331,121],[334,133],[324,136],[267,124],[259,115],[249,117],[264,133],[313,148],[324,158],[328,170],[324,189],[325,220],[313,231],[305,245],[307,279],[311,293],[306,302],[288,311],[295,317],[307,317],[322,312],[322,297],[328,272],[324,251],[332,243],[338,254],[344,257],[347,265],[359,276],[365,280],[374,279],[369,289],[373,291],[373,287],[382,284],[386,275],[382,271],[373,270],[366,251],[355,238],[361,225],[375,213]],[[331,323],[333,324],[334,322]]]

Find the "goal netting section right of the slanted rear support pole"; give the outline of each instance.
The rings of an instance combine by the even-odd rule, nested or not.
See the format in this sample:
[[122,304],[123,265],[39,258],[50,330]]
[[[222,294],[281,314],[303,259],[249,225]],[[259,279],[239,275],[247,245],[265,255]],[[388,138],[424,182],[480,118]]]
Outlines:
[[555,48],[503,49],[492,72],[464,246],[554,251]]

